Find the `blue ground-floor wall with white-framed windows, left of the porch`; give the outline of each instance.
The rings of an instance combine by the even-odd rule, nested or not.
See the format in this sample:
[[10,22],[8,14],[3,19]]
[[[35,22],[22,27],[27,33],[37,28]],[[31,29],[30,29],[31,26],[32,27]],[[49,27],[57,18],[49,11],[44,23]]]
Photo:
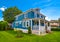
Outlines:
[[12,23],[13,28],[21,28],[21,29],[27,29],[27,22],[29,21],[28,25],[31,27],[31,20],[26,20],[26,21],[14,21]]

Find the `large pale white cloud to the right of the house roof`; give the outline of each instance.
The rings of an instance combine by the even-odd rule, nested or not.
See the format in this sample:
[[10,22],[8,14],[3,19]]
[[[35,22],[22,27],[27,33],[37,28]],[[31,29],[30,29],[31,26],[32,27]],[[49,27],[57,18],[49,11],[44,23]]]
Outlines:
[[47,20],[58,19],[60,17],[60,8],[47,7],[47,8],[41,9],[41,13],[47,16],[46,17]]

